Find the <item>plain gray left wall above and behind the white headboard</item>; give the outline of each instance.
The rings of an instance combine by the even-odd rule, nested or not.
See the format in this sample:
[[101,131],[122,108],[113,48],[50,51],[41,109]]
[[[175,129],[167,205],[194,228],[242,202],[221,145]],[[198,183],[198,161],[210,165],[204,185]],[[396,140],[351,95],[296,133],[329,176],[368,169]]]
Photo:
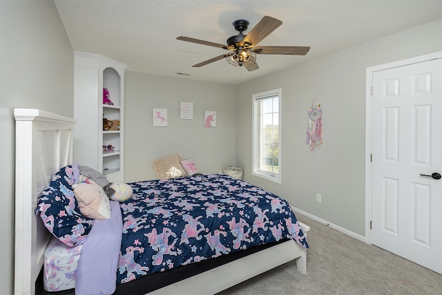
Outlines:
[[13,294],[14,108],[73,117],[73,50],[53,1],[0,1],[0,294]]

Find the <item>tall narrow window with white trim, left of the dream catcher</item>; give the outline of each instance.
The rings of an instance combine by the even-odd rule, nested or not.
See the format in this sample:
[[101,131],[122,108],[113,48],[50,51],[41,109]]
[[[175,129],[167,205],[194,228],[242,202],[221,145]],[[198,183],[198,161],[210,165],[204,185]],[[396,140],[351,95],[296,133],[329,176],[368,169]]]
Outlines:
[[280,181],[281,89],[252,95],[253,175]]

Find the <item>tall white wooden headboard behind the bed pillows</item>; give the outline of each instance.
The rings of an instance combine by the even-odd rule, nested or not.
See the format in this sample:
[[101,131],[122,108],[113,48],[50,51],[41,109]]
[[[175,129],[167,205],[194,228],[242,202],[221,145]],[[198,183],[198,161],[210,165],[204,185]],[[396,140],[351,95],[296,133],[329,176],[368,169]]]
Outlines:
[[61,167],[73,164],[75,120],[15,108],[15,294],[35,294],[50,234],[35,216],[37,198]]

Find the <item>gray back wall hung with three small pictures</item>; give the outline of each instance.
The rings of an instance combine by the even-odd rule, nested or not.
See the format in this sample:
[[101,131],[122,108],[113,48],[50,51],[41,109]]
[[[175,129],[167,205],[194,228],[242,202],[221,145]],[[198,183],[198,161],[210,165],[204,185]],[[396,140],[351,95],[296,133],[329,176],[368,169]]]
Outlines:
[[[126,73],[124,181],[156,179],[152,161],[172,153],[193,158],[201,173],[235,164],[235,88],[191,79]],[[193,120],[180,120],[180,102],[193,102]],[[152,126],[152,108],[167,108],[168,126]],[[216,127],[204,127],[216,111]]]

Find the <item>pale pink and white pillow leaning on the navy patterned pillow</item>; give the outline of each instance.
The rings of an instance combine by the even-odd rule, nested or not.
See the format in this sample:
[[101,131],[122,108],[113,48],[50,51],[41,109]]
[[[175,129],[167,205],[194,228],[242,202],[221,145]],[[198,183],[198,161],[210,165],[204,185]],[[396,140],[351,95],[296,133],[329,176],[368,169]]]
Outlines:
[[87,180],[73,184],[73,189],[81,214],[92,219],[111,218],[111,203],[102,187]]

